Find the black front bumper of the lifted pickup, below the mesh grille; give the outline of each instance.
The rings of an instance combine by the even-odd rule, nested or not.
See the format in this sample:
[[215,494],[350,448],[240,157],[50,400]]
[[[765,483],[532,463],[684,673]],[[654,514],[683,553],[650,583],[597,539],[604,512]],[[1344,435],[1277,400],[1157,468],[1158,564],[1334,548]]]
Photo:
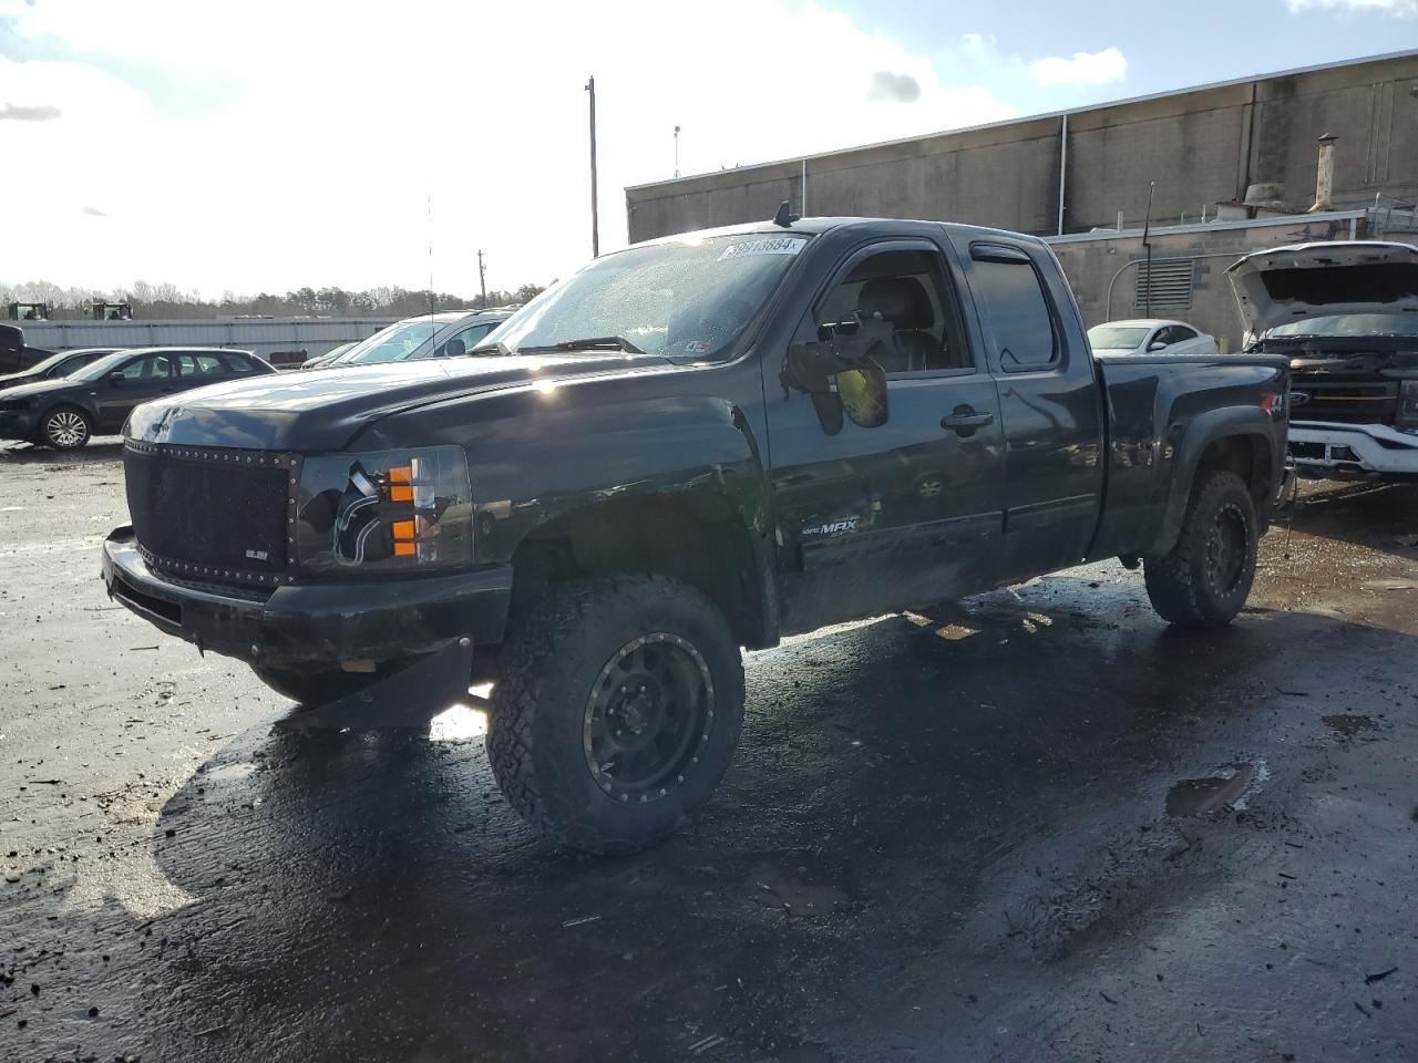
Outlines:
[[397,583],[291,584],[271,594],[179,584],[147,567],[132,527],[109,534],[102,564],[109,597],[143,619],[201,651],[271,668],[381,663],[496,643],[512,601],[510,566]]

